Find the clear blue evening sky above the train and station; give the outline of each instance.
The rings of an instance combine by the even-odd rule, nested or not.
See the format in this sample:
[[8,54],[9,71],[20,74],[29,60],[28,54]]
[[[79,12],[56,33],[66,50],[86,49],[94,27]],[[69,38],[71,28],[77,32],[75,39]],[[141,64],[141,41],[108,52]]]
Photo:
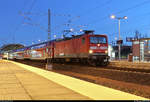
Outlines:
[[[121,20],[121,37],[133,37],[135,30],[150,35],[149,0],[0,0],[0,46],[10,43],[31,45],[47,40],[47,11],[51,9],[51,38],[64,29],[95,30],[107,34],[109,42],[118,37],[118,21],[110,15],[127,16]],[[28,13],[29,14],[24,14]],[[70,26],[65,24],[71,20]],[[126,43],[126,42],[125,42]]]

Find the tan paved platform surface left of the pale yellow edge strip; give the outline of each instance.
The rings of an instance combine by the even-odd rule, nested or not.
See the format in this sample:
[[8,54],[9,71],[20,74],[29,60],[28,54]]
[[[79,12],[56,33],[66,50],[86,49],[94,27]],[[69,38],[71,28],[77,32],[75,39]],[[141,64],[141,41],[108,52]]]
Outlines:
[[90,100],[36,73],[0,60],[0,100]]

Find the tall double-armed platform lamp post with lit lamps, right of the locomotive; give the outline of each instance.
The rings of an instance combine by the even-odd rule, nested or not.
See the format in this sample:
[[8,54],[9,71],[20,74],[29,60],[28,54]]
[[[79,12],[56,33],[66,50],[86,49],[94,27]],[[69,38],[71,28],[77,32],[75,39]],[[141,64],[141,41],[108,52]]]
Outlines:
[[117,43],[118,43],[118,50],[119,50],[119,60],[121,60],[121,43],[122,43],[122,40],[120,37],[120,20],[127,19],[127,18],[128,18],[127,16],[116,17],[115,15],[111,15],[111,19],[117,19],[118,20],[119,40],[117,41]]

